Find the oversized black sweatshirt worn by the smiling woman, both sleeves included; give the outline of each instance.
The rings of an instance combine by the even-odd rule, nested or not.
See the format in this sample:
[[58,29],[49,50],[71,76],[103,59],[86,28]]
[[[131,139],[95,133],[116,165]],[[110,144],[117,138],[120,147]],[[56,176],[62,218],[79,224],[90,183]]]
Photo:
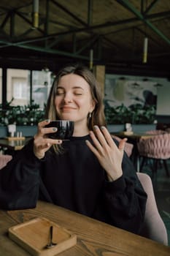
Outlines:
[[123,176],[109,182],[87,139],[64,141],[61,154],[51,148],[44,159],[34,156],[31,140],[0,170],[0,208],[34,208],[41,199],[139,233],[147,195],[131,160],[124,154]]

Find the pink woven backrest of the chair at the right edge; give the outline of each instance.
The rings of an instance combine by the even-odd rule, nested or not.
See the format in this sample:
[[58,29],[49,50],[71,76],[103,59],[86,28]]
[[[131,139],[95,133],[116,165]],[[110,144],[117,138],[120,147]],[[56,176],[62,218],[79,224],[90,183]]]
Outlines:
[[170,158],[170,133],[152,135],[150,138],[140,139],[137,143],[139,155],[155,159]]

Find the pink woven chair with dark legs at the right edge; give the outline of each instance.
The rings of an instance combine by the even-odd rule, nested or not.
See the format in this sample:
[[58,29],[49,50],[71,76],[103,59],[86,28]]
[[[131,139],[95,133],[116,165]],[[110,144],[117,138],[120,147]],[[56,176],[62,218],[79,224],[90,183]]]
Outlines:
[[152,159],[152,175],[157,173],[158,163],[163,161],[166,170],[166,175],[169,177],[169,170],[166,160],[170,158],[170,133],[161,135],[152,135],[149,138],[141,138],[137,143],[139,157],[142,157],[142,167],[146,159]]

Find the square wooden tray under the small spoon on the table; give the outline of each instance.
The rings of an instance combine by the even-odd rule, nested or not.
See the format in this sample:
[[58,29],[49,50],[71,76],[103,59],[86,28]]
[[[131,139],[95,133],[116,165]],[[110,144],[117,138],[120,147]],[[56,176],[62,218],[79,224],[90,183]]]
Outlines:
[[[47,249],[50,226],[53,226],[53,243],[57,245]],[[53,256],[77,243],[76,235],[43,217],[10,227],[9,238],[35,256]]]

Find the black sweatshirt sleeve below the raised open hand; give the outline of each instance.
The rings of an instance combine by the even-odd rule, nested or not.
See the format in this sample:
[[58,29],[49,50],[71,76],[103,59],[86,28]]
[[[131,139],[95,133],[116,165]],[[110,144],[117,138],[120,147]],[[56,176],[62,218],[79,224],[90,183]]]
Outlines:
[[134,165],[126,154],[123,157],[123,176],[104,184],[104,206],[110,224],[139,233],[144,222],[147,194],[144,192]]

